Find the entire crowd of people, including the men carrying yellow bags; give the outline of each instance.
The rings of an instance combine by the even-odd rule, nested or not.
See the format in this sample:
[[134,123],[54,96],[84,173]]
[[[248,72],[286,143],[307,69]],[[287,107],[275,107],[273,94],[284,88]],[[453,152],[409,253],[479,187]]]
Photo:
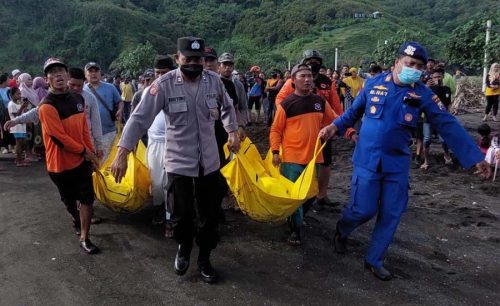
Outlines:
[[[248,126],[267,125],[273,165],[291,181],[312,159],[318,136],[325,142],[317,159],[318,195],[289,217],[291,245],[303,242],[311,207],[333,205],[327,196],[332,148],[342,145],[334,136],[355,143],[351,200],[333,234],[334,248],[345,253],[350,233],[378,215],[365,266],[382,280],[392,278],[383,259],[408,203],[412,155],[416,166],[428,169],[436,135],[445,164],[476,165],[485,177],[498,166],[498,135],[485,123],[478,129],[480,140],[470,138],[448,112],[454,78],[416,42],[401,46],[393,66],[371,63],[367,71],[327,68],[322,55],[309,49],[293,69],[271,69],[268,79],[257,65],[236,71],[233,54],[219,56],[201,38],[179,38],[177,48],[175,59],[158,55],[137,81],[119,75],[105,81],[96,62],[70,68],[58,58],[49,58],[44,75],[33,80],[19,69],[0,76],[1,153],[15,153],[18,167],[45,156],[88,254],[99,252],[89,238],[91,224],[98,222],[92,171],[112,158],[110,170],[120,183],[138,141],[147,145],[152,222],[164,224],[165,236],[178,243],[174,270],[186,273],[196,242],[200,276],[208,283],[217,281],[210,257],[229,192],[219,172],[229,162],[223,148],[227,143],[237,153]],[[495,63],[484,121],[490,112],[496,121],[499,94]],[[125,125],[110,156],[117,122]]]

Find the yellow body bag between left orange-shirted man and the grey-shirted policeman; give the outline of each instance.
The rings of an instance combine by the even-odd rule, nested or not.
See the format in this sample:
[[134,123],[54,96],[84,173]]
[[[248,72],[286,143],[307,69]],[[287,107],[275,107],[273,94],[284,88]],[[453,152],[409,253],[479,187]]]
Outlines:
[[128,155],[128,167],[120,184],[110,172],[115,158],[119,136],[117,135],[108,159],[93,174],[96,198],[109,209],[131,213],[143,208],[150,196],[151,178],[146,164],[146,147],[139,141],[137,149]]

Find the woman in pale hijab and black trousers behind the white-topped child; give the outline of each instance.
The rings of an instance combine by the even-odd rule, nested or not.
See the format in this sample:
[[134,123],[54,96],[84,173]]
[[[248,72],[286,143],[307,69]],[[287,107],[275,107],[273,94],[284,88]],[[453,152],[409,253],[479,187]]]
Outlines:
[[[19,89],[21,90],[21,98],[28,99],[31,103],[31,107],[38,106],[38,104],[40,104],[40,98],[38,97],[35,89],[33,89],[33,79],[31,78],[31,75],[28,73],[21,74],[18,78],[18,82]],[[28,108],[28,110],[30,108]],[[28,150],[26,152],[27,160],[39,161],[40,157],[36,153],[36,150],[39,151],[40,148],[43,147],[40,124],[27,124],[26,132],[28,134],[28,137],[26,139],[26,144],[28,147]]]

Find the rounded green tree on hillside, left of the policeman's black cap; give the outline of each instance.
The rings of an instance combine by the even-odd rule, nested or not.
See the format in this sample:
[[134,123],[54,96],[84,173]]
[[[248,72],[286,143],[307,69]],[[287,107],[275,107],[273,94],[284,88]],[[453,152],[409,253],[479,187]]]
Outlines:
[[113,61],[111,70],[117,70],[122,75],[137,77],[147,68],[153,67],[154,57],[157,54],[153,45],[147,41],[133,50],[125,50]]

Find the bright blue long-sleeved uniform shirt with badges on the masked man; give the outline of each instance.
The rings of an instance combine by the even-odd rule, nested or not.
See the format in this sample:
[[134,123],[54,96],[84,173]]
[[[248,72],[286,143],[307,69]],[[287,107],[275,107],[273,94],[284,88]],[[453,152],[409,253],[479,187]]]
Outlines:
[[448,113],[439,98],[422,82],[412,86],[394,83],[392,73],[382,73],[366,81],[351,108],[333,123],[344,135],[364,115],[352,158],[355,166],[371,171],[409,172],[412,130],[420,112],[438,131],[463,167],[483,160],[477,145],[458,120]]

